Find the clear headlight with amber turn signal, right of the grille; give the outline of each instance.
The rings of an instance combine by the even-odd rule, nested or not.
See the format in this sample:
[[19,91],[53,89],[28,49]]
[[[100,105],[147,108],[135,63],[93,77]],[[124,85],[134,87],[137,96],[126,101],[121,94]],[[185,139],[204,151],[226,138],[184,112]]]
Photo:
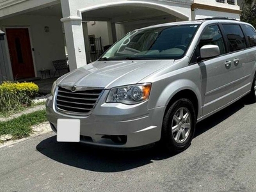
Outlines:
[[151,84],[133,84],[112,88],[106,102],[118,102],[123,104],[138,104],[149,98]]

